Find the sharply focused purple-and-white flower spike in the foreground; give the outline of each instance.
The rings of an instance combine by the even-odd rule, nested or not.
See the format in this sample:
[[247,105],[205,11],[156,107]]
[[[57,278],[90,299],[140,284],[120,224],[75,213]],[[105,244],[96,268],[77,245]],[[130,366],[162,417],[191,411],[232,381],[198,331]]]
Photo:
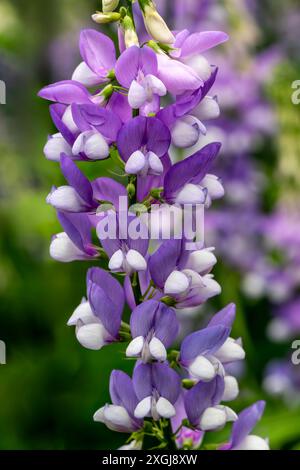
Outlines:
[[[60,163],[68,182],[53,187],[47,198],[64,230],[53,237],[50,253],[62,262],[99,258],[103,263],[88,271],[87,299],[68,324],[75,326],[84,347],[99,350],[123,341],[128,343],[126,356],[137,360],[132,379],[112,372],[112,404],[100,408],[94,419],[131,433],[130,448],[141,448],[146,431],[160,447],[198,448],[204,432],[234,422],[229,443],[216,448],[268,449],[264,439],[250,435],[263,402],[239,416],[222,404],[239,393],[227,366],[245,357],[241,341],[230,337],[235,306],[228,305],[206,328],[186,336],[179,351],[169,350],[179,333],[176,310],[202,305],[220,293],[210,274],[216,263],[213,250],[194,240],[189,240],[193,249],[191,243],[187,249],[185,238],[160,240],[153,249],[146,237],[133,236],[121,223],[120,197],[150,210],[154,203],[208,208],[223,196],[220,180],[209,173],[218,142],[175,164],[169,149],[171,143],[185,149],[197,144],[206,132],[203,121],[219,114],[217,100],[208,95],[217,69],[202,54],[227,35],[173,34],[153,2],[139,0],[152,36],[140,47],[132,2],[115,11],[118,5],[104,1],[103,12],[93,18],[118,22],[120,56],[109,37],[84,30],[79,44],[83,62],[72,80],[40,92],[54,102],[50,114],[59,131],[48,139],[45,155]],[[162,108],[165,96],[171,103]],[[90,182],[75,163],[108,158],[119,166],[127,186],[108,177]],[[118,236],[107,238],[99,224],[112,213]],[[141,233],[139,210],[126,215]],[[93,242],[94,231],[101,246]],[[125,303],[132,312],[130,324],[122,321]]]

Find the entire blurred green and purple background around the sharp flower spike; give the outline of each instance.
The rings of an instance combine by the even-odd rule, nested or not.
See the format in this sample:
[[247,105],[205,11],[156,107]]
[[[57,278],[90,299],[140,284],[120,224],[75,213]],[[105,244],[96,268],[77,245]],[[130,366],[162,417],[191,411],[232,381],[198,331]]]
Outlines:
[[[300,450],[300,10],[286,0],[157,0],[173,29],[222,29],[231,40],[209,56],[220,68],[221,117],[201,141],[221,140],[216,167],[227,195],[207,216],[222,294],[182,314],[183,330],[228,302],[247,350],[235,408],[264,398],[259,433],[273,449]],[[85,294],[88,263],[60,265],[49,240],[60,231],[45,203],[63,182],[43,147],[55,132],[38,90],[70,78],[92,0],[1,0],[0,449],[114,449],[126,436],[93,423],[113,368],[130,371],[119,345],[83,349],[66,322]],[[295,85],[294,85],[295,86]],[[299,88],[300,89],[300,88]],[[297,100],[298,98],[298,100]],[[299,104],[297,104],[299,102]],[[99,167],[98,167],[99,168]],[[97,176],[100,176],[99,172]],[[125,364],[124,364],[125,363]],[[226,439],[228,430],[220,434]],[[216,440],[215,436],[212,436]],[[208,436],[208,442],[210,436]]]

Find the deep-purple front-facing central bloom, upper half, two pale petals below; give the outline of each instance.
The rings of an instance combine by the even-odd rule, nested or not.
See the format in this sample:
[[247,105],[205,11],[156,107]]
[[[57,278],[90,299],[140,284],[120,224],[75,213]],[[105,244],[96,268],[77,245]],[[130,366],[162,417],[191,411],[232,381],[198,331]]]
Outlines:
[[138,175],[138,200],[152,188],[162,186],[163,174],[171,165],[167,155],[170,142],[169,129],[154,117],[136,117],[120,130],[118,150],[126,163],[125,171]]

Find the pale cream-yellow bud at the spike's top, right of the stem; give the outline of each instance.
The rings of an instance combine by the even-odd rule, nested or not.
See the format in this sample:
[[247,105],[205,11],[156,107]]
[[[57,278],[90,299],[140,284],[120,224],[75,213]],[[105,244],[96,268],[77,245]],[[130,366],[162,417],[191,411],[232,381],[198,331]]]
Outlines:
[[144,15],[145,27],[150,36],[163,44],[173,44],[175,42],[175,37],[169,30],[166,22],[157,12],[152,1],[139,0],[139,3]]

